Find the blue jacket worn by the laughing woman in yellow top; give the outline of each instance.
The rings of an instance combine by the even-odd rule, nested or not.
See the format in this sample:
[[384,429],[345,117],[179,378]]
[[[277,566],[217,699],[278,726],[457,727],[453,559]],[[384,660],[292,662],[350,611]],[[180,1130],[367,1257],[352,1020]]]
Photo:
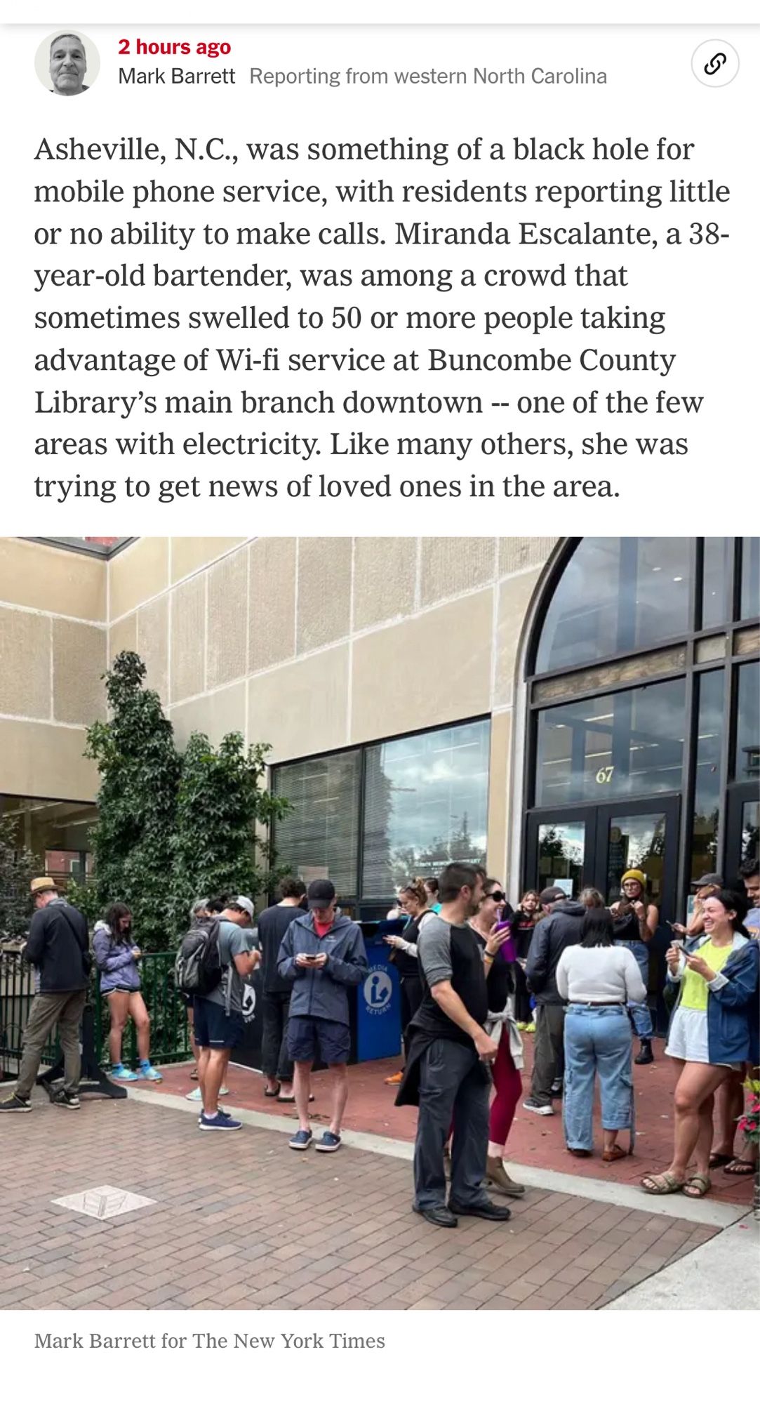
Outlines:
[[[697,936],[695,941],[688,942],[688,953],[695,955],[705,941],[710,941],[710,936]],[[669,981],[680,984],[683,970],[684,965],[674,976],[667,972]],[[760,946],[757,941],[735,935],[733,951],[724,969],[707,986],[707,1050],[711,1063],[757,1063],[760,1057],[759,979]]]

